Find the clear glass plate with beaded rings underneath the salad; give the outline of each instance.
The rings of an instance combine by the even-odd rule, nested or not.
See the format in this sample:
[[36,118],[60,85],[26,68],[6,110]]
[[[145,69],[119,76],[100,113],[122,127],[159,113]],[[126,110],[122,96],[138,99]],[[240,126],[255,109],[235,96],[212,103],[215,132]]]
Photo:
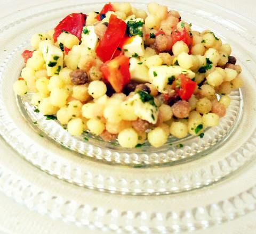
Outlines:
[[[146,1],[131,2],[135,7],[146,7]],[[18,152],[15,155],[11,153],[11,148],[7,148],[9,154],[0,158],[0,187],[7,195],[54,218],[101,230],[130,232],[178,232],[207,228],[255,210],[255,180],[247,179],[254,178],[253,156],[256,148],[256,119],[253,118],[256,111],[255,23],[203,1],[161,3],[179,10],[185,20],[193,22],[195,29],[209,28],[218,37],[229,41],[234,56],[242,65],[246,82],[241,91],[233,94],[233,103],[236,104],[229,110],[233,115],[232,124],[236,128],[233,127],[233,132],[229,133],[231,128],[227,124],[227,130],[224,130],[227,131],[228,138],[222,140],[221,147],[219,145],[213,152],[206,152],[204,157],[199,154],[191,156],[196,160],[182,161],[183,163],[177,161],[171,165],[169,162],[173,162],[173,156],[168,158],[169,162],[165,162],[165,155],[150,152],[150,162],[156,165],[151,167],[144,167],[147,164],[141,163],[146,160],[139,164],[136,162],[138,152],[130,154],[131,160],[126,164],[116,160],[116,155],[111,154],[109,160],[105,161],[122,165],[109,165],[99,163],[103,162],[101,157],[89,160],[91,157],[87,156],[90,155],[74,153],[73,149],[70,151],[63,148],[49,137],[39,136],[41,125],[36,129],[29,118],[23,118],[21,113],[26,114],[25,109],[22,109],[21,100],[18,100],[17,105],[17,98],[12,91],[12,84],[23,66],[19,55],[28,47],[33,32],[53,28],[59,19],[70,12],[99,10],[103,3],[94,1],[90,4],[75,0],[62,1],[61,8],[57,2],[35,6],[33,11],[28,9],[18,12],[17,21],[13,21],[11,16],[7,17],[3,20],[4,26],[0,26],[0,43],[5,49],[0,53],[0,133],[6,143]],[[22,101],[31,119],[37,118],[29,112],[26,100]],[[19,106],[22,108],[19,109]],[[47,126],[57,128],[54,121],[47,122]],[[49,129],[42,129],[50,136]],[[219,134],[223,135],[224,131]],[[56,140],[63,142],[58,138]],[[199,138],[197,141],[200,143]],[[65,146],[70,147],[69,145]],[[91,155],[99,155],[97,151]],[[27,161],[61,180],[39,171]],[[132,163],[133,166],[126,166]],[[167,163],[166,166],[162,166],[164,163]],[[136,168],[134,164],[143,166]],[[202,188],[217,181],[222,182]],[[240,181],[239,186],[237,181]],[[174,194],[196,188],[202,189]],[[116,195],[102,194],[92,189]],[[172,195],[134,197],[122,194]]]

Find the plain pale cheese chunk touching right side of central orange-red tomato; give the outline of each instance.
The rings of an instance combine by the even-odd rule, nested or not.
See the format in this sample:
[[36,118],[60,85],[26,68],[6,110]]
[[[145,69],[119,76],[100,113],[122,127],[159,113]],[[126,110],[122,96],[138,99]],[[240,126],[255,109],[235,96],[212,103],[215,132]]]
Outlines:
[[131,79],[137,82],[149,82],[148,68],[139,59],[130,59]]

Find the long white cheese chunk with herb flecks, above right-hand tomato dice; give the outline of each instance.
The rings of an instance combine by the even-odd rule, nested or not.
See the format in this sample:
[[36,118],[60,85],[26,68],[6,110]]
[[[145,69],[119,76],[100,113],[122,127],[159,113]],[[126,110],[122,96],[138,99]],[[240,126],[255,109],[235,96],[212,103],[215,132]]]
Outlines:
[[189,69],[180,66],[153,66],[149,69],[149,79],[160,93],[167,93],[165,90],[168,85],[168,79],[172,76],[178,77],[179,74],[186,74],[190,79],[195,77],[195,73]]

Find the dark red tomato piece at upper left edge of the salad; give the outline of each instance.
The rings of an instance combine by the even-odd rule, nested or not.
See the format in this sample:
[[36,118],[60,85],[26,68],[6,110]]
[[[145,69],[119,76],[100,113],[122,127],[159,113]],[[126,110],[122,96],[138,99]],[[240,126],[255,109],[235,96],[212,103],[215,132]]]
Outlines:
[[53,40],[57,41],[61,32],[67,31],[81,40],[82,30],[85,25],[86,15],[83,13],[72,13],[66,16],[57,27],[54,28]]

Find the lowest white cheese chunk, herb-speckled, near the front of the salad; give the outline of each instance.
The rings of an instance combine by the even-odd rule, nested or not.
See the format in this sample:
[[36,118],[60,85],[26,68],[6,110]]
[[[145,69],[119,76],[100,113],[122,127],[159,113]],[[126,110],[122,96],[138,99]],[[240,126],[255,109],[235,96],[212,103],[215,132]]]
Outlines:
[[[146,95],[149,95],[149,94],[146,93]],[[153,98],[153,96],[151,97]],[[146,120],[149,123],[153,123],[153,124],[157,122],[157,116],[158,116],[157,106],[155,105],[154,102],[153,103],[142,102],[141,96],[139,93],[130,97],[127,101],[124,102],[124,105],[133,106],[135,115],[137,115],[140,119]]]

